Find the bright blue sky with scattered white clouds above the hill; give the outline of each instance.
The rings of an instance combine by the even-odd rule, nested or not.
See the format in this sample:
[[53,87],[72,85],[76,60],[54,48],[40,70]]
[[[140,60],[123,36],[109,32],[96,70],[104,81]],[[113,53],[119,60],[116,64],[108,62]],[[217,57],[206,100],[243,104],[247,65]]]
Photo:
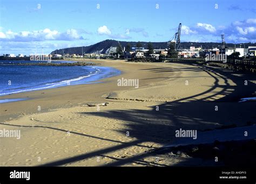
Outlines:
[[0,0],[0,54],[50,53],[105,39],[256,42],[255,0]]

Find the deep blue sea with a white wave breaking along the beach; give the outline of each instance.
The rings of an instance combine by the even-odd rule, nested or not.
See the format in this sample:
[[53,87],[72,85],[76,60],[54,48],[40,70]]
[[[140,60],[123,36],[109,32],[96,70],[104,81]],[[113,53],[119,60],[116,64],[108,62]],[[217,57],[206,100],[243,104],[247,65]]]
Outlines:
[[[0,61],[0,96],[92,83],[121,73],[118,69],[101,66],[17,65],[26,62],[31,63],[31,61]],[[52,61],[52,63],[60,62]]]

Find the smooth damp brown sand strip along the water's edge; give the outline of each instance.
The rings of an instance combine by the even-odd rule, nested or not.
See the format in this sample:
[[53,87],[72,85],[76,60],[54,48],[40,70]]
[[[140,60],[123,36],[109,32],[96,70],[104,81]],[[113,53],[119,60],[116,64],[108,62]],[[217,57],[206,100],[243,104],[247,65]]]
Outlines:
[[[63,60],[63,61],[65,61],[65,60]],[[87,61],[91,61],[91,60],[84,59],[83,61],[87,62]],[[108,93],[112,93],[113,90],[108,90],[108,91],[105,91],[105,93],[104,93],[104,91],[101,88],[107,89],[110,82],[112,82],[112,85],[110,88],[112,88],[112,89],[114,88],[114,90],[123,90],[123,89],[125,90],[125,89],[131,88],[131,87],[121,87],[121,89],[120,89],[120,87],[117,86],[117,82],[115,84],[113,84],[113,81],[117,81],[119,78],[122,78],[122,76],[124,76],[126,79],[133,78],[132,74],[129,74],[130,69],[123,68],[123,65],[133,66],[132,70],[135,70],[136,66],[144,66],[143,63],[137,63],[137,65],[132,65],[132,63],[126,62],[124,60],[96,60],[96,61],[98,63],[100,63],[100,66],[102,66],[102,67],[112,67],[112,68],[118,69],[119,71],[121,71],[121,74],[117,75],[117,76],[112,76],[110,78],[93,81],[93,82],[97,82],[97,83],[93,83],[93,84],[89,83],[89,84],[79,84],[79,85],[73,85],[73,86],[63,86],[60,88],[50,88],[50,89],[43,89],[43,90],[26,91],[24,93],[0,96],[0,100],[4,100],[5,98],[8,98],[8,99],[10,99],[10,98],[11,99],[29,98],[29,100],[26,100],[26,101],[2,103],[0,105],[0,112],[4,112],[4,113],[0,114],[2,117],[1,121],[8,121],[9,118],[13,119],[15,117],[22,116],[23,114],[32,114],[32,113],[38,112],[37,106],[40,104],[38,103],[38,105],[35,107],[35,103],[37,103],[36,102],[37,100],[42,102],[42,105],[40,105],[40,106],[44,107],[44,108],[41,108],[40,112],[46,112],[46,111],[50,111],[52,109],[71,107],[73,105],[77,105],[77,103],[79,103],[80,101],[79,100],[74,101],[72,99],[71,91],[73,91],[73,90],[76,91],[75,93],[78,95],[78,98],[82,98],[83,95],[79,95],[79,91],[83,91],[84,95],[86,95],[86,91],[84,90],[84,88],[89,87],[89,86],[90,86],[90,89],[92,89],[92,90],[94,87],[96,87],[97,94],[89,95],[89,98],[87,98],[87,100],[85,102],[97,102],[100,100],[104,100],[104,98],[102,98],[101,96],[108,94]],[[133,64],[135,64],[135,63],[133,63]],[[150,67],[150,65],[149,65],[149,67]],[[147,72],[144,72],[144,73],[147,73]],[[138,79],[141,78],[139,73],[136,73],[136,78],[138,78]],[[160,81],[160,80],[156,80],[156,81]],[[140,86],[145,85],[146,83],[147,82],[140,82]],[[46,96],[46,94],[49,95],[50,97],[48,98]],[[60,94],[60,95],[58,95],[58,94]],[[64,99],[67,98],[67,100],[65,102],[64,102],[63,98],[60,97],[63,95],[64,95]],[[59,104],[53,105],[54,103],[51,102],[52,98],[57,98],[56,101],[58,101]],[[50,103],[45,103],[44,100],[50,101]],[[20,109],[19,104],[21,104],[21,102],[25,102],[26,103],[25,106],[28,108]],[[14,104],[14,103],[16,103],[16,104]],[[47,104],[47,105],[45,105],[45,104]],[[33,107],[33,108],[30,108],[30,107]],[[7,110],[7,111],[5,111],[5,110]]]

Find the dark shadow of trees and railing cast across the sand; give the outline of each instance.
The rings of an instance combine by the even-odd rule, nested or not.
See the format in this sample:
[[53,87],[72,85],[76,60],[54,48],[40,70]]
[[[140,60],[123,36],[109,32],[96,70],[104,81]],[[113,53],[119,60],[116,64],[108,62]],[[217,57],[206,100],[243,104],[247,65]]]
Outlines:
[[[99,155],[111,158],[106,154],[134,145],[139,146],[140,144],[148,141],[164,145],[171,144],[176,138],[175,131],[178,129],[194,130],[197,128],[198,131],[203,131],[207,129],[220,128],[221,126],[230,126],[234,122],[237,122],[239,125],[246,125],[248,122],[255,123],[255,115],[253,115],[253,112],[256,109],[256,104],[253,102],[238,103],[240,98],[250,97],[255,92],[255,84],[250,82],[250,80],[256,80],[255,75],[237,76],[233,75],[233,72],[230,72],[230,70],[206,66],[190,67],[187,65],[184,65],[184,68],[178,69],[166,67],[153,68],[150,70],[151,72],[174,72],[177,70],[199,72],[203,70],[213,77],[215,82],[211,89],[204,91],[203,93],[158,105],[159,111],[156,110],[156,107],[151,107],[151,110],[130,109],[78,112],[83,115],[102,116],[125,121],[127,129],[120,130],[120,132],[125,135],[126,131],[129,131],[130,136],[136,138],[136,140],[105,148],[103,150],[53,161],[41,166],[60,166]],[[220,85],[218,78],[223,79],[225,81],[225,85]],[[235,85],[231,86],[227,79],[232,80]],[[245,80],[248,81],[246,87],[244,87]],[[219,92],[211,93],[211,91],[216,88],[220,89]],[[211,95],[200,98],[200,100],[195,100],[196,97],[204,96],[205,94]],[[207,99],[214,99],[214,96],[217,95],[223,95],[224,97],[211,102],[207,101]],[[215,105],[218,105],[218,109],[220,110],[214,111]],[[154,155],[156,152],[161,153],[157,150],[151,150],[150,152],[138,154],[133,157],[115,159],[115,161],[104,166],[122,166],[137,161],[140,161],[140,164],[142,165],[147,165],[148,163],[143,163],[143,158],[146,158],[149,155]],[[159,163],[154,164],[164,166]],[[179,162],[177,166],[179,165],[190,165],[190,159],[187,159],[184,162]]]

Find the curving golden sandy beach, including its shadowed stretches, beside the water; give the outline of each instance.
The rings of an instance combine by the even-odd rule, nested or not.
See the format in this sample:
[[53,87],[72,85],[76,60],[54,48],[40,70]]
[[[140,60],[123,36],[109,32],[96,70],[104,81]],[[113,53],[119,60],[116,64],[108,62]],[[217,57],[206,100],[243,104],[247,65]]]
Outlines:
[[[0,129],[21,130],[21,139],[1,138],[0,166],[202,165],[201,159],[154,150],[173,143],[177,129],[255,123],[255,102],[239,103],[255,96],[255,74],[181,63],[93,62],[122,74],[8,95],[28,100],[0,105]],[[122,77],[138,79],[139,87],[118,86]],[[86,105],[104,102],[109,104]]]

